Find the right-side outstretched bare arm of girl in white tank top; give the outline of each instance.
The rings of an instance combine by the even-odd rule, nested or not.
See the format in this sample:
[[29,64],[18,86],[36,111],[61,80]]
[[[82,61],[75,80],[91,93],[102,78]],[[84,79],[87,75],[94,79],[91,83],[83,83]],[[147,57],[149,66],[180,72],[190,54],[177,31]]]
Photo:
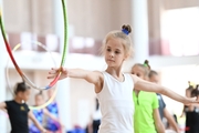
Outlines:
[[172,100],[176,100],[176,101],[181,102],[187,105],[191,104],[191,103],[197,103],[197,104],[199,103],[199,101],[197,101],[196,99],[182,96],[182,95],[171,91],[170,89],[164,88],[161,85],[158,85],[158,84],[155,84],[151,82],[147,82],[145,80],[137,78],[136,75],[132,75],[132,78],[135,83],[134,88],[137,90],[161,93]]

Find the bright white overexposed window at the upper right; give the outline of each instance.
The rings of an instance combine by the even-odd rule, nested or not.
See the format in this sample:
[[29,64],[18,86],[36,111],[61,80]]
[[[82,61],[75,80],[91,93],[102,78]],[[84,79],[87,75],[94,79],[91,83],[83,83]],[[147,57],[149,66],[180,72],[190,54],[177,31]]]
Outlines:
[[163,16],[161,37],[175,57],[199,54],[199,8],[168,10]]

